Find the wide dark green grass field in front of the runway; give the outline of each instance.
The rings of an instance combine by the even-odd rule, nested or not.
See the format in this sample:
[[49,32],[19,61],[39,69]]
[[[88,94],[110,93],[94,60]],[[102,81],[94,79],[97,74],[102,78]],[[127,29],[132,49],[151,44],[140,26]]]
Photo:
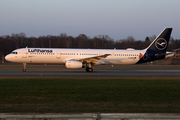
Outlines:
[[1,77],[0,112],[179,113],[180,77]]

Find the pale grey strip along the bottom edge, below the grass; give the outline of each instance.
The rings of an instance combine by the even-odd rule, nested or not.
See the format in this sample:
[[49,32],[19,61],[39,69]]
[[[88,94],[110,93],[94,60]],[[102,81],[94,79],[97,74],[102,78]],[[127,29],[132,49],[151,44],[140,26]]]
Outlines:
[[65,120],[114,120],[114,119],[127,119],[127,120],[179,120],[179,114],[169,113],[82,113],[82,114],[35,114],[35,115],[1,115],[0,119],[3,120],[32,120],[32,119],[65,119]]

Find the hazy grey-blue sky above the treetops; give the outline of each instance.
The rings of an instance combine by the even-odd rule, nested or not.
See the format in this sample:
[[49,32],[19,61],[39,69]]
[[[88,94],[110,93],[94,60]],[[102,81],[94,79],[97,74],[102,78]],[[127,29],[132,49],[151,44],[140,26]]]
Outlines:
[[25,33],[144,40],[172,27],[180,39],[180,0],[0,0],[0,36]]

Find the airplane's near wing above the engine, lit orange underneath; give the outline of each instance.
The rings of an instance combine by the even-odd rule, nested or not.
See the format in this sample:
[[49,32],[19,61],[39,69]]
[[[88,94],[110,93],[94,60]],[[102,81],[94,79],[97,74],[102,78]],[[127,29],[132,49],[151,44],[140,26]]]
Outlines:
[[88,58],[79,58],[79,59],[71,59],[71,60],[81,61],[83,63],[96,63],[100,61],[100,59],[105,59],[109,55],[111,54],[103,54],[103,55],[98,55],[98,56],[93,56],[93,57],[88,57]]

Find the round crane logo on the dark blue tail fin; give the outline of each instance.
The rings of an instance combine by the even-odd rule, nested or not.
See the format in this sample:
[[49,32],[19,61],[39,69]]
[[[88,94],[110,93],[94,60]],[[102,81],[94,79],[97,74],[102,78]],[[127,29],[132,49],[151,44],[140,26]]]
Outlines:
[[165,39],[160,38],[156,41],[155,46],[159,50],[164,50],[167,47],[167,42]]

